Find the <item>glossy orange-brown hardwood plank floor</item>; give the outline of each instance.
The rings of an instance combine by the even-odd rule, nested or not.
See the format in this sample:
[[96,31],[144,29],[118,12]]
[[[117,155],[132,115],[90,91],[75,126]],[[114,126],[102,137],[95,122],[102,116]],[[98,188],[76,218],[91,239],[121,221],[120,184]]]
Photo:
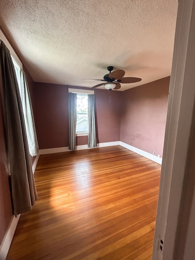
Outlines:
[[121,146],[41,155],[8,260],[151,260],[161,166]]

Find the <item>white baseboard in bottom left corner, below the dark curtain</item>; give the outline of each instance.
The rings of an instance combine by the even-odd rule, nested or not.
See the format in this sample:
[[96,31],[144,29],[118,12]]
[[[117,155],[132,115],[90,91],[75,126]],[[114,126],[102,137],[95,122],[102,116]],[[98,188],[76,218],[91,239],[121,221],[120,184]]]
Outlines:
[[8,229],[5,233],[5,236],[3,238],[2,244],[0,246],[0,259],[1,260],[5,260],[13,239],[13,235],[14,232],[16,230],[16,226],[18,224],[18,220],[19,220],[20,214],[17,215],[17,217],[15,215],[12,216],[12,219],[9,223]]

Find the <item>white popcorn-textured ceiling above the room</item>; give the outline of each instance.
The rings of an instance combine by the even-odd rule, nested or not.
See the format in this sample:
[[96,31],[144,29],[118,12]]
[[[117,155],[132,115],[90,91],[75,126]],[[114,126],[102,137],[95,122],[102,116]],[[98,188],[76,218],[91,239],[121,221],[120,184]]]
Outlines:
[[171,74],[177,4],[1,0],[0,24],[34,81],[92,87],[114,66],[142,78],[125,90]]

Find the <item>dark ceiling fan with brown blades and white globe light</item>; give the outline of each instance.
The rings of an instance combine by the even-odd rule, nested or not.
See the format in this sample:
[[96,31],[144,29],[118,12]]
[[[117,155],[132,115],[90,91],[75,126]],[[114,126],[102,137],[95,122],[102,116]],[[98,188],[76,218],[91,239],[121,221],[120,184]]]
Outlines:
[[118,70],[115,70],[113,72],[111,72],[113,70],[113,66],[108,66],[107,69],[108,69],[108,71],[110,73],[106,74],[104,76],[104,79],[101,79],[101,80],[100,79],[83,79],[83,80],[104,81],[106,83],[101,83],[101,84],[95,85],[95,86],[91,87],[91,89],[104,85],[105,88],[107,88],[108,90],[121,88],[121,84],[120,83],[122,83],[122,84],[123,83],[134,83],[134,82],[141,81],[140,78],[124,77],[125,76],[125,71],[122,70],[122,69],[118,69]]

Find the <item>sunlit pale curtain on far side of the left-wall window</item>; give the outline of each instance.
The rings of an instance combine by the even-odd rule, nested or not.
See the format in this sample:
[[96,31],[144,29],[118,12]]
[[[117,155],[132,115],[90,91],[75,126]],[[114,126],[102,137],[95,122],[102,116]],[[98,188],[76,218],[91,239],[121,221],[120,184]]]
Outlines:
[[23,69],[20,68],[20,97],[22,101],[24,122],[27,132],[28,147],[31,156],[35,156],[39,152],[36,129],[34,124],[33,109],[30,100],[28,83]]

